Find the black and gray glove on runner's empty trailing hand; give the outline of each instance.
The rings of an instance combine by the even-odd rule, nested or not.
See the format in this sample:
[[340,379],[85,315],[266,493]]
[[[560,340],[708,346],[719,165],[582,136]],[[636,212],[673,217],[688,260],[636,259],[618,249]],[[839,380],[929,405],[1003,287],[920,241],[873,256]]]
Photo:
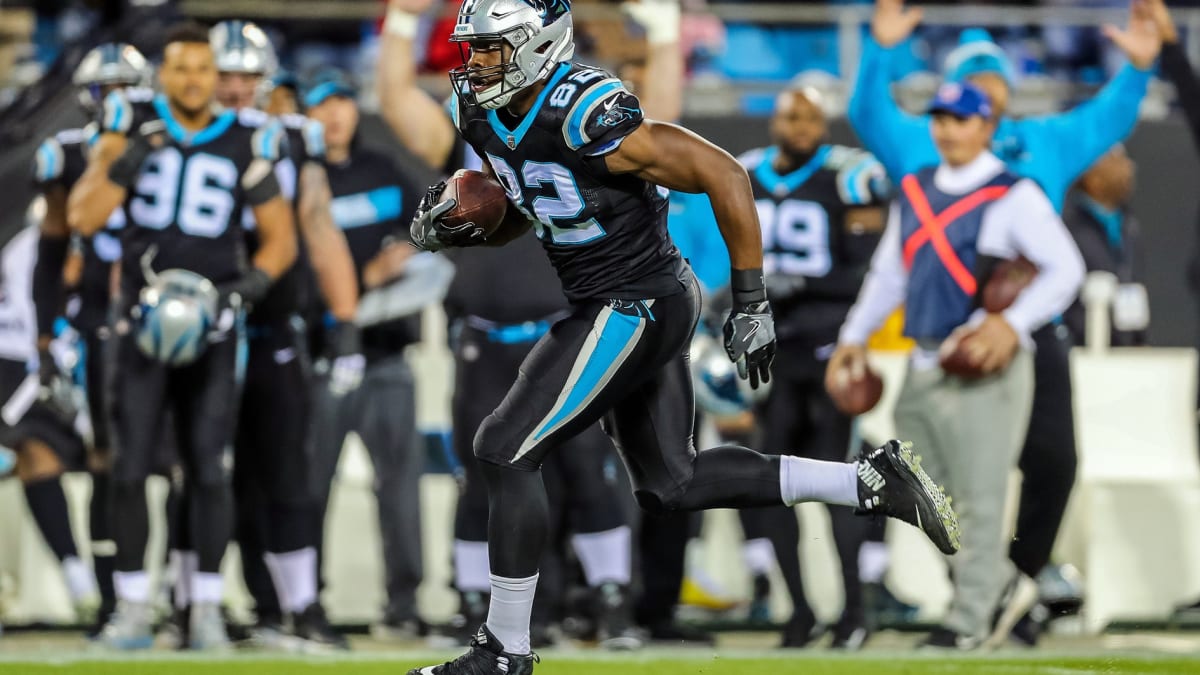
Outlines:
[[770,382],[775,359],[775,319],[770,315],[762,270],[733,270],[733,309],[725,319],[725,353],[752,389]]

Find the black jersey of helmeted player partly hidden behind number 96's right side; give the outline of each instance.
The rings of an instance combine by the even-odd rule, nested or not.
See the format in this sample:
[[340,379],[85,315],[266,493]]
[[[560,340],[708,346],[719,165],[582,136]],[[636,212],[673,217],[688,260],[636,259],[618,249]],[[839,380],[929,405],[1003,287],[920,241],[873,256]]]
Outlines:
[[[280,191],[283,198],[293,204],[294,225],[300,226],[300,213],[295,209],[299,205],[300,195],[300,168],[310,160],[305,133],[313,130],[312,120],[304,115],[280,115],[276,118],[282,125],[284,136],[280,161],[275,165],[275,178],[280,181]],[[319,125],[316,126],[318,133],[322,132]],[[254,213],[250,207],[242,211],[242,227],[246,229],[246,246],[251,257],[258,251],[258,229],[254,221]],[[308,250],[305,246],[304,237],[296,232],[296,262],[283,273],[283,276],[275,280],[271,289],[266,293],[253,311],[247,317],[251,325],[274,324],[278,325],[289,321],[298,312],[307,310],[316,292],[316,279],[312,265],[308,263]]]

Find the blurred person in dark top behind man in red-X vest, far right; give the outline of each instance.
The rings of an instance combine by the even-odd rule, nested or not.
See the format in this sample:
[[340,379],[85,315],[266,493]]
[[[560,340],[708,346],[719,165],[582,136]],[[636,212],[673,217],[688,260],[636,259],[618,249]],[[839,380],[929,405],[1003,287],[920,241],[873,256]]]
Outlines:
[[[1142,276],[1138,221],[1129,213],[1135,167],[1124,145],[1116,145],[1079,179],[1067,199],[1062,217],[1084,256],[1087,271],[1106,271],[1117,277],[1112,301],[1114,347],[1146,344],[1150,305]],[[1075,303],[1064,316],[1075,342],[1084,344],[1084,305]]]

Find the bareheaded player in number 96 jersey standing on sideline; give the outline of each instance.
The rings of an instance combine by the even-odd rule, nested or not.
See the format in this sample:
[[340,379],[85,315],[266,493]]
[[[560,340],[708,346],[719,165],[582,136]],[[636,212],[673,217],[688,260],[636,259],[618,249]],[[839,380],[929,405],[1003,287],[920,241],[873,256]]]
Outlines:
[[[283,133],[263,113],[215,109],[216,62],[203,26],[185,24],[168,34],[158,79],[163,94],[152,100],[119,92],[104,100],[103,135],[67,209],[68,222],[84,234],[103,227],[121,204],[127,216],[112,350],[119,604],[101,639],[119,649],[151,643],[145,477],[169,406],[197,551],[190,643],[220,649],[228,644],[218,603],[233,522],[227,448],[238,405],[235,315],[260,301],[288,270],[296,240],[274,172]],[[242,255],[244,205],[258,222],[260,246],[252,261]],[[155,277],[169,269],[200,275],[217,289],[217,306],[209,307],[214,324],[192,328],[202,331],[193,344],[198,357],[178,366],[169,365],[170,354],[143,346],[164,338],[143,333],[162,328],[154,323]],[[155,289],[144,294],[149,285]],[[192,291],[203,297],[206,288],[198,282]]]

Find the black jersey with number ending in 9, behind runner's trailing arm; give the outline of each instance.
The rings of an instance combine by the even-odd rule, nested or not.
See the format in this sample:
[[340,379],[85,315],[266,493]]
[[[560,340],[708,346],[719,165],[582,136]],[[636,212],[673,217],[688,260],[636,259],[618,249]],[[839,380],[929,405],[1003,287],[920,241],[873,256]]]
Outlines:
[[[782,175],[778,156],[770,147],[740,157],[762,226],[763,271],[803,277],[802,291],[770,298],[775,330],[781,341],[835,342],[878,243],[876,233],[854,232],[846,213],[882,208],[886,174],[870,154],[841,145],[821,145],[808,163]],[[779,287],[786,286],[768,283]]]

